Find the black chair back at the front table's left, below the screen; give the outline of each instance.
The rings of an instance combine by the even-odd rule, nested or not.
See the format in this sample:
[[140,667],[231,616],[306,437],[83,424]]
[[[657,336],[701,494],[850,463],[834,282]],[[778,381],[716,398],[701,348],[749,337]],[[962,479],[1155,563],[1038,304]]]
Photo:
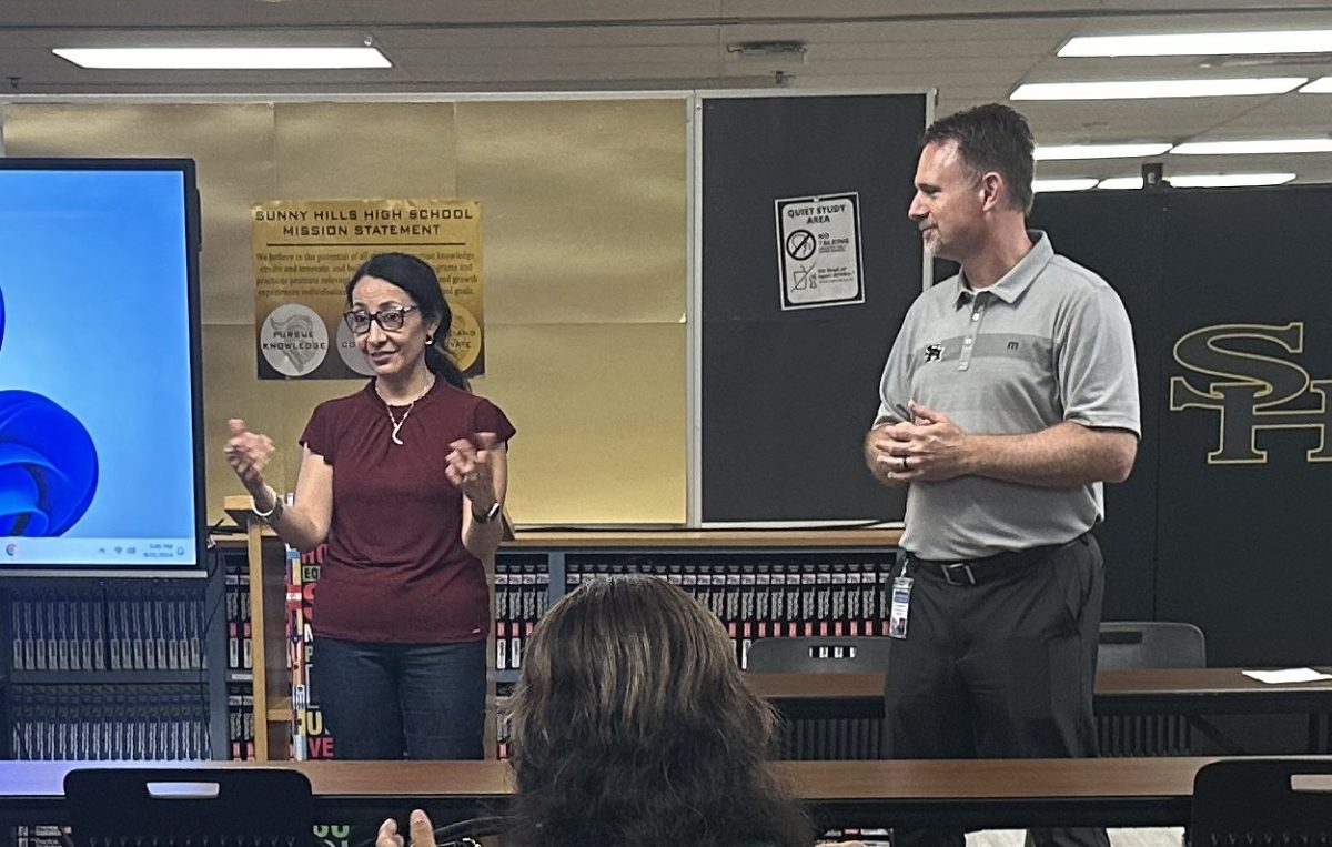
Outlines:
[[305,847],[314,802],[304,774],[278,768],[79,768],[65,774],[76,847]]

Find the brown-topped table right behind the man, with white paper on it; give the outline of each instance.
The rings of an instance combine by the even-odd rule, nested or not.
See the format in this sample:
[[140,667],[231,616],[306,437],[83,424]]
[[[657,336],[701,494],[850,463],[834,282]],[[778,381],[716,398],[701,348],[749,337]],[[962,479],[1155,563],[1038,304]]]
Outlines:
[[[787,714],[883,715],[882,674],[746,674],[746,679]],[[1213,738],[1205,715],[1304,714],[1309,752],[1332,750],[1332,679],[1267,685],[1235,667],[1104,670],[1096,674],[1095,707],[1099,715],[1188,715]]]

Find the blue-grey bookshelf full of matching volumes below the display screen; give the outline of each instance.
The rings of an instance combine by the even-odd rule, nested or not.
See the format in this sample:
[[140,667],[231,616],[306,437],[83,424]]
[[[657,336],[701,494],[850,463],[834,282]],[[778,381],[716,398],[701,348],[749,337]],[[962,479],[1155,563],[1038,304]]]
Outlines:
[[0,758],[225,758],[226,543],[197,575],[0,579]]

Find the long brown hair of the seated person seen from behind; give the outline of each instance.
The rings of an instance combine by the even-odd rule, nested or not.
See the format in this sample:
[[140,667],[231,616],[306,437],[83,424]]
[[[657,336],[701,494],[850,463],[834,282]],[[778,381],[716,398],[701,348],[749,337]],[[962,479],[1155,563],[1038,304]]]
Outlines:
[[511,702],[521,847],[807,847],[775,716],[721,622],[655,577],[595,579],[533,633]]

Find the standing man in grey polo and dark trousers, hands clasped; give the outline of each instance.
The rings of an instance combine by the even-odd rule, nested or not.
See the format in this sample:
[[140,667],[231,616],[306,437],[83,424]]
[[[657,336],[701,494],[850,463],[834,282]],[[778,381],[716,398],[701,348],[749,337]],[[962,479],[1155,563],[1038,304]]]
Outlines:
[[864,441],[876,478],[910,485],[884,685],[895,758],[1096,752],[1104,582],[1087,531],[1102,482],[1134,465],[1138,370],[1114,289],[1026,228],[1032,146],[1026,119],[991,104],[935,121],[916,168],[910,217],[962,273],[907,313]]

